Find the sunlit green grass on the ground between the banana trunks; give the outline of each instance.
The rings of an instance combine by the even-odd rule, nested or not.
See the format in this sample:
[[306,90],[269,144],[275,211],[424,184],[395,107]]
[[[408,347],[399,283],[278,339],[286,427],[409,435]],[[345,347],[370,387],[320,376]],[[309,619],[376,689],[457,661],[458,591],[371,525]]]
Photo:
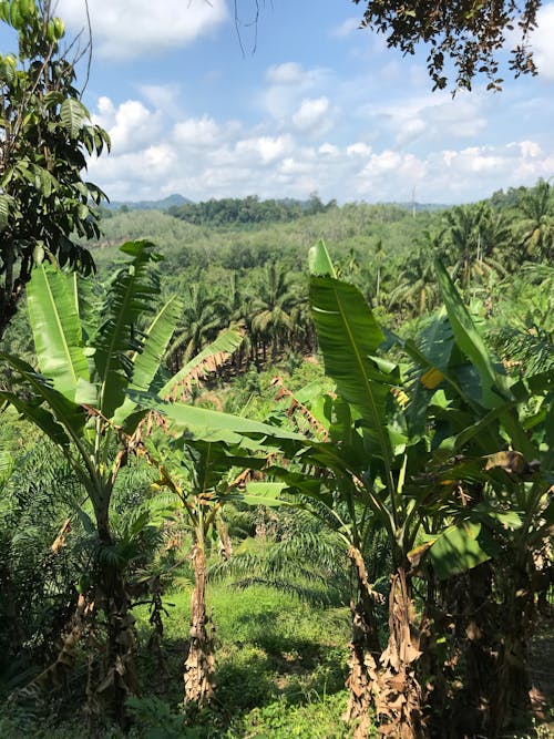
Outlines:
[[[209,710],[191,718],[186,728],[178,710],[189,593],[168,593],[164,599],[172,604],[164,635],[168,689],[143,654],[141,671],[146,674],[151,695],[145,690],[134,708],[146,739],[349,736],[340,718],[347,701],[350,630],[346,608],[308,606],[266,587],[211,589],[216,700]],[[146,644],[146,607],[137,608],[135,616],[141,644]]]

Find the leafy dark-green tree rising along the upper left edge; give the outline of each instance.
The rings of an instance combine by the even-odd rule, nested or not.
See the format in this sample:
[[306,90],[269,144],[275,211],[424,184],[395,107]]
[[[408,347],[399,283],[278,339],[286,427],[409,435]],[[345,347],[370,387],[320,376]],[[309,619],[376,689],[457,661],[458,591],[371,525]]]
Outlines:
[[19,40],[17,54],[0,57],[0,338],[32,268],[49,258],[90,274],[93,259],[75,235],[100,235],[105,195],[82,172],[85,155],[100,155],[110,138],[90,123],[74,86],[78,60],[61,49],[63,22],[52,8],[50,0],[0,3],[0,20]]

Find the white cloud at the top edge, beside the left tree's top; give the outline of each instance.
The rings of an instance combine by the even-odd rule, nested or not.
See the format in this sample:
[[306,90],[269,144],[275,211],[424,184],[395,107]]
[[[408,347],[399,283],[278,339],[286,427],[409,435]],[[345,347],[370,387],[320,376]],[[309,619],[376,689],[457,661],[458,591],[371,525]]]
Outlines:
[[[225,0],[93,0],[89,8],[95,51],[110,59],[185,45],[227,19]],[[58,12],[71,29],[86,27],[84,2],[60,0]]]

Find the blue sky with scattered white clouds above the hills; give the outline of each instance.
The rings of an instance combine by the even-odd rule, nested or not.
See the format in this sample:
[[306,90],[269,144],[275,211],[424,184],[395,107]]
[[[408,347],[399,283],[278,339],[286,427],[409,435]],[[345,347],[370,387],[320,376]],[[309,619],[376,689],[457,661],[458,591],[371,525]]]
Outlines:
[[[89,0],[84,102],[112,153],[88,178],[113,201],[179,193],[340,204],[474,202],[554,175],[554,2],[536,78],[431,92],[424,50],[360,30],[350,0]],[[59,0],[71,37],[83,0]],[[239,32],[237,33],[237,25]],[[85,69],[79,69],[83,82]]]

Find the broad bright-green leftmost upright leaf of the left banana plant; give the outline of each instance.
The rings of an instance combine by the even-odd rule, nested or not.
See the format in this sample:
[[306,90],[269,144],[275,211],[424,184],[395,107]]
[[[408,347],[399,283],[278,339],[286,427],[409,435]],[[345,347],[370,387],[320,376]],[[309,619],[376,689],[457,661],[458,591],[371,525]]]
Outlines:
[[41,265],[27,287],[27,304],[39,367],[55,390],[75,400],[79,380],[89,380],[75,298],[76,276]]

